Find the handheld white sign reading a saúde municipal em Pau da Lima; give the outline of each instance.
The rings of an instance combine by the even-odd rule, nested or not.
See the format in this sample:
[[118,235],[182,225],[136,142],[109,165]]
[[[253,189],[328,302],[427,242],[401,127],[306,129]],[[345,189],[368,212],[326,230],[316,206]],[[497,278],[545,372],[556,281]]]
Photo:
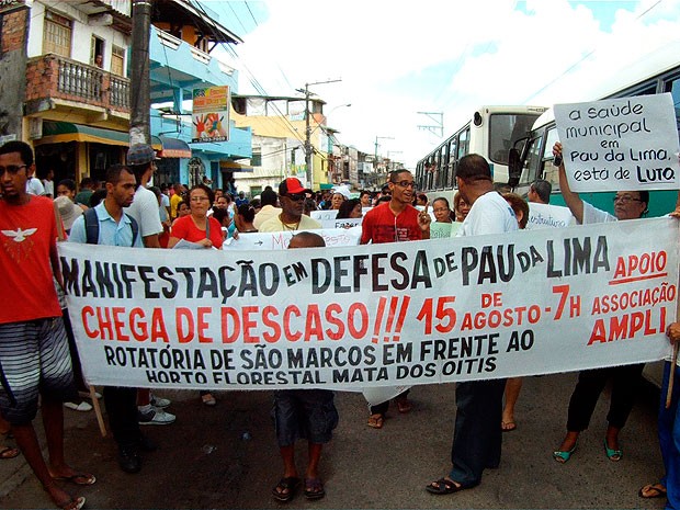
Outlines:
[[680,188],[670,93],[556,104],[554,110],[571,191]]

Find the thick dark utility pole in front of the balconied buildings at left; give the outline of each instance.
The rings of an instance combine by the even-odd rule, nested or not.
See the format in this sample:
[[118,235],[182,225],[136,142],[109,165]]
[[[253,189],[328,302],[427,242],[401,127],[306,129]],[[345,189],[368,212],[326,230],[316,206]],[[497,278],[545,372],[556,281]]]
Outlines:
[[150,144],[149,34],[151,0],[133,0],[132,14],[129,145]]

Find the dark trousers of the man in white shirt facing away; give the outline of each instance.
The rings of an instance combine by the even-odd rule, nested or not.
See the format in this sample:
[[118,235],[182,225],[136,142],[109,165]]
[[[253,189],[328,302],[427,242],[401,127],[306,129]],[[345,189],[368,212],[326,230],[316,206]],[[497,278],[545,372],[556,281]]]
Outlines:
[[506,379],[456,384],[456,417],[450,478],[463,487],[481,481],[485,467],[498,467]]

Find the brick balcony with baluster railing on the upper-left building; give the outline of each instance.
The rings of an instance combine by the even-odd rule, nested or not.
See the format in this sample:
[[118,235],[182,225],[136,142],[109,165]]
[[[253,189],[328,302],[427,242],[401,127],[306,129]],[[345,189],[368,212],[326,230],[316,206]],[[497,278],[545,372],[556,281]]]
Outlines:
[[26,115],[60,105],[91,113],[129,116],[129,79],[54,54],[26,66]]

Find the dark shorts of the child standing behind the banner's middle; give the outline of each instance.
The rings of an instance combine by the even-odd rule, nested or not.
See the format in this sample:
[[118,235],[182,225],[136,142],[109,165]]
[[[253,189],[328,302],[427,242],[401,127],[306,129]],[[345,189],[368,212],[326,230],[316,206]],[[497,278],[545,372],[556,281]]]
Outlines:
[[298,439],[325,444],[338,426],[333,393],[328,389],[282,389],[274,392],[272,409],[279,446],[290,446]]

